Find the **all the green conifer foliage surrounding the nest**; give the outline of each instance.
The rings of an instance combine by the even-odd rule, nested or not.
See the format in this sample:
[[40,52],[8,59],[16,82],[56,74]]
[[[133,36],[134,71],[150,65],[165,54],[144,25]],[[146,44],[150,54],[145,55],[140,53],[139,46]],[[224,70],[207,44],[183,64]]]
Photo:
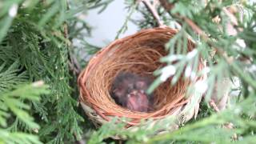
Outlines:
[[[114,118],[94,130],[77,105],[77,71],[73,66],[86,66],[90,55],[100,50],[86,42],[92,28],[82,16],[96,8],[102,13],[110,2],[113,0],[0,0],[0,143],[73,143],[84,137],[88,143],[101,143],[117,135],[126,138],[127,143],[256,141],[256,9],[255,4],[231,0],[211,0],[207,4],[171,0],[174,7],[170,11],[158,6],[164,23],[179,31],[166,43],[169,54],[160,59],[166,66],[154,72],[157,78],[149,92],[170,77],[175,85],[179,78],[195,82],[197,76],[206,74],[205,81],[192,83],[187,90],[188,95],[198,93],[198,98],[206,91],[197,119],[183,126],[177,119],[167,117],[126,130],[124,122],[129,120],[121,119],[124,122],[116,124],[120,119]],[[127,0],[126,5],[126,21],[116,38],[126,31],[129,21],[141,29],[157,26],[145,6],[134,0]],[[230,5],[242,10],[235,15],[238,34],[233,36],[226,30],[230,18],[223,12]],[[132,18],[135,12],[143,18]],[[222,19],[219,23],[212,21],[217,15]],[[190,18],[209,38],[198,36],[184,17]],[[195,42],[196,50],[187,51],[187,38]],[[207,67],[198,71],[200,58]],[[215,114],[207,102],[214,94],[214,86],[221,86],[225,78],[238,78],[239,94],[230,97],[227,110]],[[49,87],[41,86],[36,82],[39,80]],[[35,83],[27,84],[30,82]],[[234,128],[226,129],[230,122]],[[174,123],[181,128],[172,132]],[[162,130],[166,132],[158,134]]]

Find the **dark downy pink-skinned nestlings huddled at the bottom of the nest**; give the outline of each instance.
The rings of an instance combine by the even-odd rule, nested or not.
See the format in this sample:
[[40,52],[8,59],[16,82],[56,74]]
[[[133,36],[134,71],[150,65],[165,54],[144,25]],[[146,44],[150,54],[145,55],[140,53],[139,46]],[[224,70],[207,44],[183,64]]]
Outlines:
[[111,96],[114,101],[130,110],[147,112],[152,110],[153,94],[146,94],[150,78],[137,74],[120,73],[114,79]]

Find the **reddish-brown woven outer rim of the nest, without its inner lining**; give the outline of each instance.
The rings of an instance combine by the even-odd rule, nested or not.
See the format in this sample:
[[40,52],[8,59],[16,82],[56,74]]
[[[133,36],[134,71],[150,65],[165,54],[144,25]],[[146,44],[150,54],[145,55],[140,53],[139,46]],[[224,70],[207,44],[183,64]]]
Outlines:
[[[102,110],[102,108],[98,105],[98,103],[96,103],[93,100],[93,98],[91,97],[90,90],[87,90],[87,88],[86,88],[86,80],[88,80],[88,78],[90,78],[90,73],[92,73],[92,71],[94,71],[94,69],[97,68],[99,63],[102,62],[102,57],[104,57],[104,55],[109,54],[111,52],[111,50],[114,49],[115,46],[120,46],[120,45],[122,46],[124,43],[126,43],[127,40],[134,39],[134,38],[140,38],[143,35],[152,35],[152,34],[160,34],[161,35],[161,34],[163,34],[162,37],[167,37],[168,39],[170,39],[174,36],[174,34],[177,34],[177,32],[178,32],[178,30],[171,29],[168,27],[151,28],[151,29],[141,30],[138,33],[132,34],[126,38],[121,38],[121,39],[115,40],[114,42],[111,42],[110,45],[106,46],[105,48],[102,48],[102,50],[98,51],[98,53],[95,54],[94,57],[90,59],[90,62],[88,63],[86,68],[84,70],[82,70],[81,74],[79,74],[78,86],[79,86],[79,91],[80,91],[79,99],[80,99],[82,108],[85,110],[86,115],[89,116],[89,118],[94,122],[95,125],[100,126],[100,125],[102,125],[102,123],[108,122],[111,120],[111,118],[114,118],[114,117],[126,117],[126,118],[132,119],[132,121],[126,122],[129,126],[137,126],[140,123],[141,119],[153,118],[154,120],[157,120],[157,119],[165,118],[168,115],[181,115],[182,111],[186,110],[186,105],[188,103],[190,103],[191,100],[194,98],[193,95],[191,95],[189,98],[186,98],[186,99],[184,99],[184,97],[182,97],[182,99],[183,99],[182,102],[178,102],[173,106],[166,106],[166,107],[168,107],[169,110],[172,109],[167,114],[161,114],[162,111],[166,110],[164,108],[162,108],[160,110],[154,110],[154,111],[151,111],[148,113],[133,111],[135,116],[134,116],[134,114],[130,114],[130,113],[128,113],[128,114],[124,114],[124,113],[113,114],[113,112],[111,112],[111,110],[110,111],[107,111],[104,109]],[[188,38],[188,43],[190,44],[191,50],[193,50],[194,42],[192,42],[192,40],[190,40]],[[117,53],[118,50],[122,51],[122,49],[119,48],[119,49],[115,49],[114,52]],[[202,59],[201,59],[198,69],[202,69],[202,67],[204,67],[204,62],[202,62]],[[198,79],[203,79],[203,77],[198,78]],[[201,98],[197,100],[196,106],[194,106],[194,111],[190,112],[190,114],[186,114],[187,115],[186,121],[188,121],[193,116],[197,115],[198,104],[200,101],[201,101]],[[113,104],[115,104],[115,103],[112,102],[111,105],[113,105]],[[117,104],[115,104],[115,105],[117,105]],[[121,106],[119,106],[119,107],[121,107]],[[121,109],[124,109],[124,108],[121,107]],[[139,116],[137,116],[137,115],[139,115]]]

